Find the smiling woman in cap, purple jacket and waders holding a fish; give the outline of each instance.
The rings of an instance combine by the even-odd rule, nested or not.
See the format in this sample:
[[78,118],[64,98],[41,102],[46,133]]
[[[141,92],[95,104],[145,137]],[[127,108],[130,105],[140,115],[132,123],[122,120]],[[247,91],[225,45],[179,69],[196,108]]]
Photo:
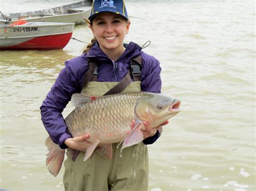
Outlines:
[[[130,20],[122,0],[100,1],[92,5],[89,17],[93,33],[92,43],[84,53],[65,62],[55,84],[46,96],[42,107],[42,121],[54,143],[60,148],[82,151],[75,161],[68,157],[64,162],[65,190],[147,190],[148,153],[147,144],[154,143],[160,136],[161,126],[151,129],[144,122],[142,143],[125,148],[120,152],[118,144],[112,144],[113,157],[105,159],[97,152],[83,161],[90,135],[72,137],[66,128],[62,111],[72,94],[82,93],[102,96],[124,79],[131,68],[130,61],[142,59],[140,81],[124,87],[122,92],[149,91],[160,93],[160,66],[158,60],[144,52],[135,43],[124,45],[125,34],[129,32]],[[91,64],[97,64],[97,80],[87,81]],[[129,74],[129,73],[128,73]],[[168,122],[161,125],[165,125]],[[131,128],[134,121],[131,122]]]

